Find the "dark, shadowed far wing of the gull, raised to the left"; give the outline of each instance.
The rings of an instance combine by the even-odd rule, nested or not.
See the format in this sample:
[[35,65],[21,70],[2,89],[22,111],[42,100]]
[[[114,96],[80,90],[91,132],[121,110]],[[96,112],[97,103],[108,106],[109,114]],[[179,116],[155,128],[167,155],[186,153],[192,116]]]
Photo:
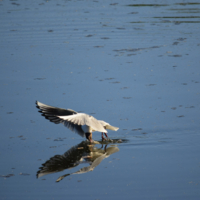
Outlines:
[[71,110],[71,109],[63,109],[63,108],[49,106],[39,101],[36,101],[36,107],[39,109],[39,112],[42,113],[42,116],[44,116],[49,121],[55,124],[62,123],[71,131],[78,133],[82,137],[85,137],[85,133],[83,132],[80,125],[71,123],[70,121],[65,121],[62,118],[58,117],[58,116],[74,115],[74,114],[77,114],[76,111]]

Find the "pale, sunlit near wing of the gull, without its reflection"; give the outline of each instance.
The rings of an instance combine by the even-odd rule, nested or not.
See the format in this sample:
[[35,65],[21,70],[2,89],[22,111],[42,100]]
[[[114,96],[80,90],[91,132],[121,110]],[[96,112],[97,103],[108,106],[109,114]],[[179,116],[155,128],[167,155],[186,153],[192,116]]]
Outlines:
[[75,125],[87,125],[93,129],[93,131],[99,131],[107,133],[107,131],[104,129],[102,124],[95,119],[93,116],[87,115],[85,113],[77,113],[74,115],[69,116],[58,116],[60,119],[63,119],[66,122],[73,123]]

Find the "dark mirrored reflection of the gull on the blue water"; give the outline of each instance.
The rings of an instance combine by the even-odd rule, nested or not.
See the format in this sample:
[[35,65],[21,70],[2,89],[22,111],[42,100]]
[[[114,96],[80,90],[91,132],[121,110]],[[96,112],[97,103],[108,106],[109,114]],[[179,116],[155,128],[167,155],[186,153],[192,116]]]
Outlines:
[[[97,142],[97,144],[91,145],[87,141],[83,141],[80,144],[73,146],[63,155],[55,155],[47,160],[37,172],[37,178],[44,175],[63,171],[65,169],[71,169],[79,164],[88,163],[89,166],[83,167],[80,170],[60,176],[56,182],[61,181],[64,177],[72,174],[82,174],[93,171],[104,158],[107,158],[113,153],[119,151],[116,143],[122,143],[122,140],[112,140],[111,142]],[[98,148],[98,147],[99,148]]]

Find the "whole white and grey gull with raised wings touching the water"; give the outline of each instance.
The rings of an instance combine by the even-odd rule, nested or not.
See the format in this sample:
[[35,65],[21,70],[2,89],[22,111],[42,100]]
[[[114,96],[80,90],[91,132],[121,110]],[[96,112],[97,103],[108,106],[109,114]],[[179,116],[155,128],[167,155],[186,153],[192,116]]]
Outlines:
[[64,126],[69,128],[71,131],[78,133],[82,137],[86,137],[90,143],[94,142],[92,140],[92,132],[94,131],[102,132],[102,140],[106,140],[103,136],[104,133],[108,138],[106,129],[113,131],[119,129],[118,127],[111,126],[103,120],[97,120],[91,115],[78,113],[72,109],[57,108],[43,104],[39,101],[36,101],[36,107],[46,119],[55,124],[64,124]]

